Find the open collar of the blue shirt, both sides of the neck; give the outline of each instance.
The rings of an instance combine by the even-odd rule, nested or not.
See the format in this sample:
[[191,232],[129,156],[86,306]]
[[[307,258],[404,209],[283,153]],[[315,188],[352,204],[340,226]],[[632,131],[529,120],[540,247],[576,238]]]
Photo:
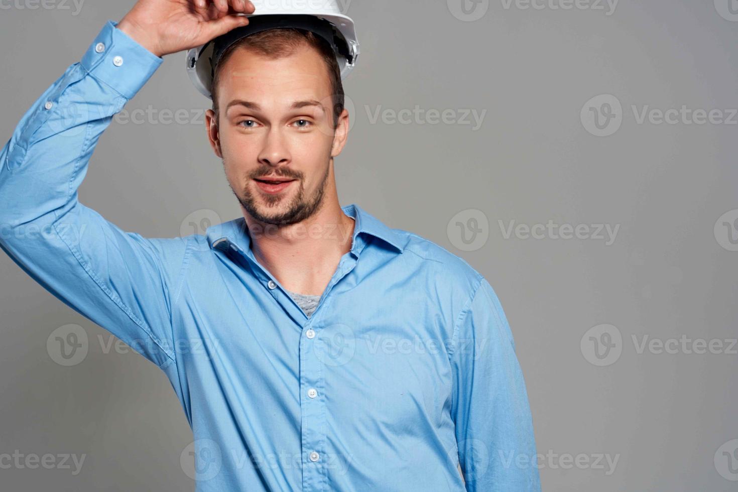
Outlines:
[[[366,246],[365,238],[360,233],[374,236],[382,239],[390,244],[399,252],[403,252],[404,243],[402,236],[390,227],[386,226],[378,218],[370,215],[357,204],[346,205],[341,207],[343,212],[351,218],[354,218],[354,235],[351,238],[351,251],[354,254],[359,252]],[[232,221],[223,224],[215,224],[205,231],[207,243],[211,248],[215,249],[231,249],[241,250],[246,256],[251,257],[251,237],[249,236],[249,228],[246,225],[246,219],[243,216],[235,218]]]

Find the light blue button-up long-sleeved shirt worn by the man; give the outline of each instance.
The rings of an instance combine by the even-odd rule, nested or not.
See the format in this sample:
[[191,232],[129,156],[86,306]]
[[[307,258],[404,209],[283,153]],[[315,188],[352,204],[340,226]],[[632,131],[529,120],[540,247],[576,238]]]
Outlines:
[[161,63],[108,21],[38,98],[0,153],[0,244],[164,371],[196,490],[539,491],[508,321],[460,257],[342,207],[351,251],[308,318],[243,217],[143,238],[78,201],[100,134]]

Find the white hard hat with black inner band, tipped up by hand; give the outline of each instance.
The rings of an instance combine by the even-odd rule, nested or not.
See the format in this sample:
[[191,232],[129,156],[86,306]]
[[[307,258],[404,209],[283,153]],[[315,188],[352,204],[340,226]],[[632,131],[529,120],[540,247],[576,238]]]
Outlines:
[[277,27],[297,27],[320,35],[334,49],[341,79],[356,66],[359,42],[354,21],[343,15],[337,0],[252,0],[255,11],[249,24],[237,27],[187,52],[187,75],[195,88],[212,99],[214,67],[225,49],[247,35]]

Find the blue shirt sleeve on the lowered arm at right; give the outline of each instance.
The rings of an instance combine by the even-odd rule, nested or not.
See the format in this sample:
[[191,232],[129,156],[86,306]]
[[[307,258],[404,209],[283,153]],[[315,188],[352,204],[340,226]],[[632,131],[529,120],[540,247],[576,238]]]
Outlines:
[[500,300],[482,278],[452,339],[459,465],[470,492],[539,492],[533,420]]

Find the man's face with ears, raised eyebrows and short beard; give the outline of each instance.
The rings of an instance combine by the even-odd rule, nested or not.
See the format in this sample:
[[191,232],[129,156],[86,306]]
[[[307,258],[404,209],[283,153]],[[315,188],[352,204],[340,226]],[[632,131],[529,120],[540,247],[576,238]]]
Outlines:
[[331,158],[348,132],[347,111],[334,131],[325,62],[307,44],[274,60],[238,48],[219,70],[219,120],[208,111],[207,129],[233,193],[264,224],[304,221],[335,187]]

